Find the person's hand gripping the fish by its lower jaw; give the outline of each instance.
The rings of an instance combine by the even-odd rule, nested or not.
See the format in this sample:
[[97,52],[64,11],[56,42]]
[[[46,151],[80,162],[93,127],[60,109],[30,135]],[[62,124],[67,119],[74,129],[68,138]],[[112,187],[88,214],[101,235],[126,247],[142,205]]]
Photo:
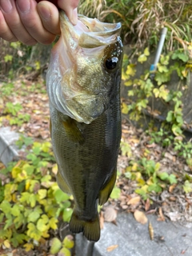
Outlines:
[[79,0],[0,0],[0,38],[8,42],[50,44],[60,34],[57,2],[74,25],[77,23]]

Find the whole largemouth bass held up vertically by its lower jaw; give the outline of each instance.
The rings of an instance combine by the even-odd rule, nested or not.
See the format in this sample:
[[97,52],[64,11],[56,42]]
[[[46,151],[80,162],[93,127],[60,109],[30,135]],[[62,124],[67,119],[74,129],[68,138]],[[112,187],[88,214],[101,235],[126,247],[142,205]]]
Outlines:
[[60,11],[61,36],[50,54],[46,89],[58,186],[74,197],[70,230],[100,238],[98,205],[110,197],[121,140],[121,23]]

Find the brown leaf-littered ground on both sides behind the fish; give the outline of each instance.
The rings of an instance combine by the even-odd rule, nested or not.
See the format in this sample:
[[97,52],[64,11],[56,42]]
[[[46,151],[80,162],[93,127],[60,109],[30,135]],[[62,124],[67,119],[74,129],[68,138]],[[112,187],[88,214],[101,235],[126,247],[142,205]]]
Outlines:
[[[31,82],[29,78],[27,80],[18,78],[12,86],[6,86],[6,88],[9,87],[10,91],[7,90],[5,93],[3,90],[4,94],[0,98],[0,126],[10,126],[11,120],[18,117],[18,113],[21,114],[21,120],[22,115],[30,114],[30,121],[18,125],[16,120],[11,129],[38,141],[50,141],[49,103],[45,82],[42,79]],[[0,85],[1,91],[2,88],[3,85]],[[13,115],[9,106],[6,106],[7,102],[19,103],[22,109]],[[136,194],[135,190],[138,186],[151,185],[151,179],[146,175],[145,165],[142,165],[142,176],[139,176],[138,162],[143,158],[151,164],[158,163],[158,172],[174,174],[177,184],[162,181],[159,182],[160,192],[151,191],[146,194],[146,198],[143,198],[142,194]],[[0,170],[2,167],[2,164],[0,164]],[[104,221],[115,223],[118,211],[135,214],[138,210],[145,214],[157,214],[158,221],[165,221],[166,218],[170,218],[172,221],[179,221],[185,225],[187,225],[187,222],[192,222],[192,195],[191,193],[185,193],[183,190],[184,177],[187,175],[187,177],[191,177],[191,171],[185,159],[178,156],[171,146],[163,148],[161,143],[151,142],[150,134],[132,126],[130,122],[123,119],[122,146],[119,151],[118,179],[116,182],[116,187],[120,188],[121,192],[118,198],[115,196],[110,198],[109,202],[103,207],[101,226]],[[135,218],[137,219],[136,215]],[[140,217],[143,221],[143,217]],[[138,222],[140,222],[139,219]],[[10,256],[32,256],[35,254],[32,251],[30,254],[24,250],[18,250],[12,251]],[[38,255],[48,254],[45,252]]]

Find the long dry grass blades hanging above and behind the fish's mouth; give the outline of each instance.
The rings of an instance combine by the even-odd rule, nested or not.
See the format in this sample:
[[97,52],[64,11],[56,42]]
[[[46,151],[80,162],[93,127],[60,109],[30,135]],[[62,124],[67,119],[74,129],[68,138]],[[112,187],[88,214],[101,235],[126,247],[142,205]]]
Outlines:
[[79,12],[105,22],[122,22],[122,37],[137,46],[157,46],[158,34],[168,28],[167,49],[177,49],[180,40],[191,41],[192,3],[189,1],[80,1]]

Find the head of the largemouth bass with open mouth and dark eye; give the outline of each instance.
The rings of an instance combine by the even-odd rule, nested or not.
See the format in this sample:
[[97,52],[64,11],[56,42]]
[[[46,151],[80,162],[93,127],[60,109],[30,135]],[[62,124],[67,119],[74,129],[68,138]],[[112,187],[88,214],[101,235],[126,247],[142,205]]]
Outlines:
[[[56,97],[50,101],[63,114],[78,122],[90,123],[98,118],[119,94],[122,66],[121,23],[99,22],[78,15],[73,26],[60,13],[61,37],[52,50],[52,64],[47,79],[57,74]],[[50,74],[50,75],[49,75]],[[50,80],[51,80],[50,79]],[[52,86],[49,85],[48,87]],[[48,94],[49,94],[48,88]]]

